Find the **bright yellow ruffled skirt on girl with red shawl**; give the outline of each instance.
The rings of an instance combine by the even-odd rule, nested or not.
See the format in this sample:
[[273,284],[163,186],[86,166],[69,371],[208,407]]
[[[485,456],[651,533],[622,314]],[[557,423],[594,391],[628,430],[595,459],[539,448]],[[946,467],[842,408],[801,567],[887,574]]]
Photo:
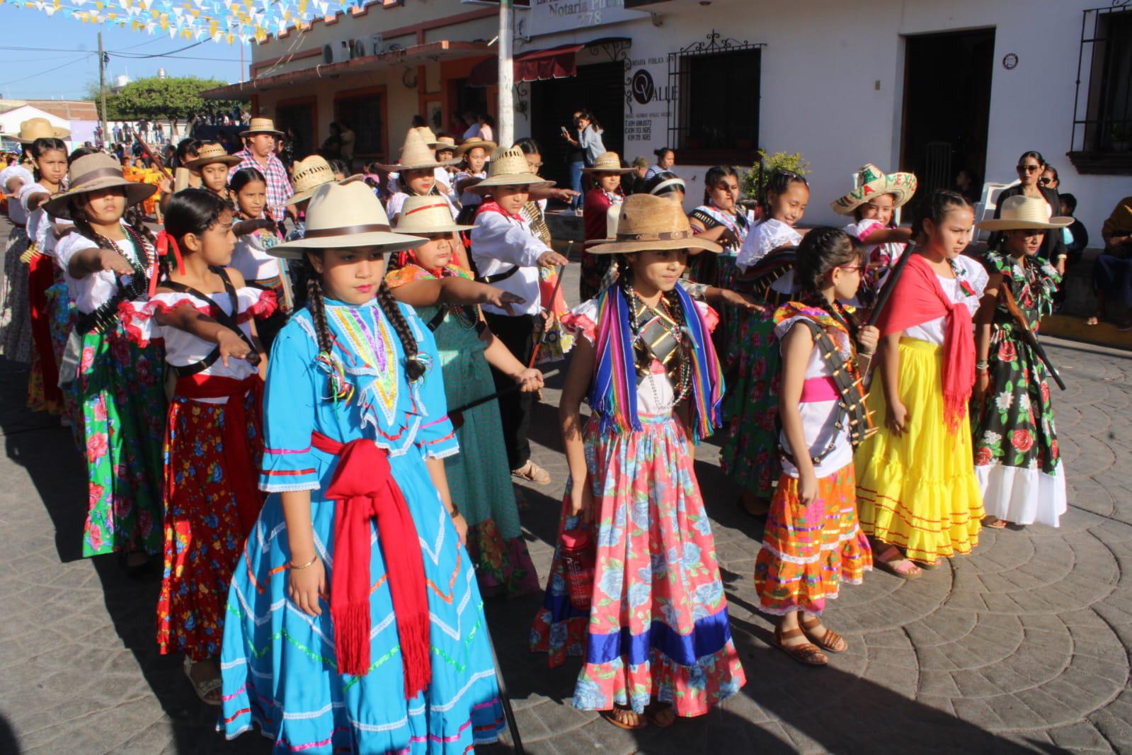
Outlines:
[[947,432],[942,346],[901,338],[899,354],[908,429],[897,436],[884,426],[887,405],[877,370],[867,403],[881,430],[860,444],[854,457],[860,527],[918,561],[969,554],[979,543],[983,520],[970,418],[963,418],[954,435]]

